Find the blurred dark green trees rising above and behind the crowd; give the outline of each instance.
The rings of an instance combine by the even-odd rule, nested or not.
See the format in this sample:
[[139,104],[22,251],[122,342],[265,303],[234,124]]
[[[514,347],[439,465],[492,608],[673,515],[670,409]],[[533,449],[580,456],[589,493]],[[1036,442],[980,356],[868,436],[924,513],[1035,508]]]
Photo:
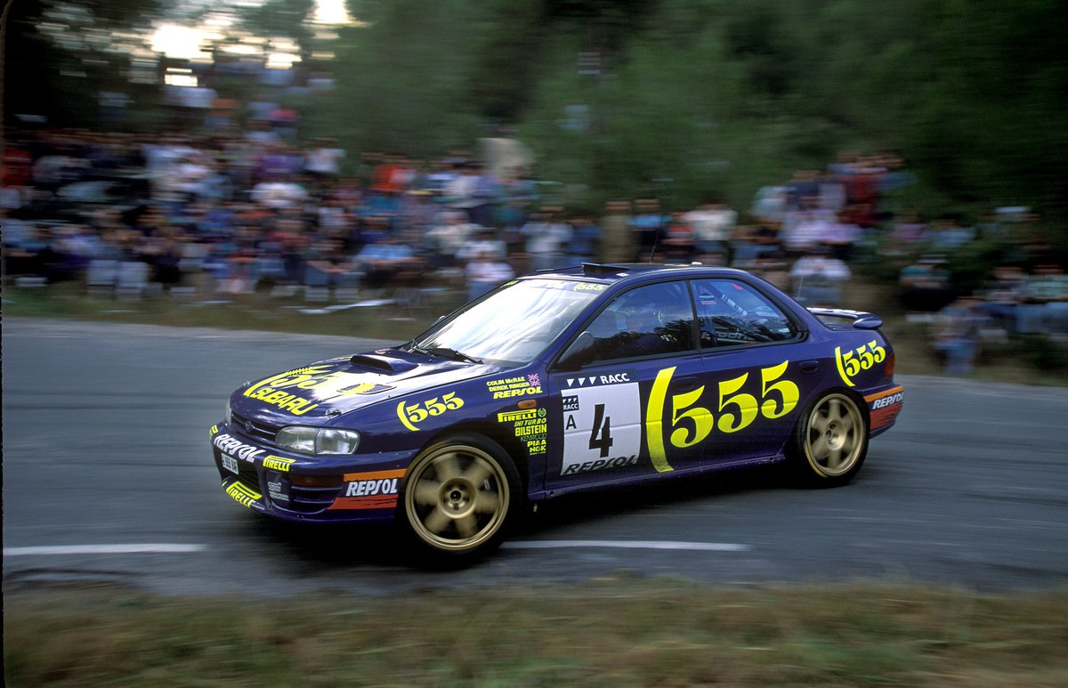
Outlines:
[[[60,78],[60,65],[85,56],[33,32],[50,1],[14,4],[7,111],[27,111],[23,99],[92,124],[93,108],[64,108],[93,103],[97,80],[122,65],[79,83]],[[119,26],[156,4],[136,0],[123,17],[104,0],[88,6],[98,24]],[[307,52],[299,19],[310,7],[270,0],[242,14],[245,28],[288,35]],[[758,187],[820,169],[843,148],[895,150],[920,187],[902,202],[930,215],[1012,204],[1068,218],[1061,0],[349,0],[349,9],[366,24],[331,46],[336,89],[298,105],[302,132],[336,138],[350,159],[371,150],[439,155],[506,124],[536,151],[541,176],[584,189],[588,201],[655,187],[679,205],[718,196],[743,207]]]

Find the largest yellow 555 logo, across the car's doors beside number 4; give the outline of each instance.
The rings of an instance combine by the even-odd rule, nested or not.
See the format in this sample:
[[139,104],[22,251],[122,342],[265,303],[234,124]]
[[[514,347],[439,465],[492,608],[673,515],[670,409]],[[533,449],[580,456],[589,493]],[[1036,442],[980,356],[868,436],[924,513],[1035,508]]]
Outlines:
[[[749,427],[757,416],[775,419],[786,416],[798,405],[801,390],[788,380],[781,379],[789,361],[760,369],[760,397],[742,391],[749,381],[749,373],[723,380],[719,384],[719,420],[709,408],[697,406],[705,386],[695,390],[673,394],[671,397],[671,426],[664,431],[664,406],[668,387],[675,374],[674,368],[665,368],[657,374],[646,407],[645,429],[649,447],[649,459],[659,472],[674,470],[668,463],[664,439],[672,447],[685,449],[707,438],[719,428],[721,433],[737,433]],[[755,389],[753,391],[756,391]]]

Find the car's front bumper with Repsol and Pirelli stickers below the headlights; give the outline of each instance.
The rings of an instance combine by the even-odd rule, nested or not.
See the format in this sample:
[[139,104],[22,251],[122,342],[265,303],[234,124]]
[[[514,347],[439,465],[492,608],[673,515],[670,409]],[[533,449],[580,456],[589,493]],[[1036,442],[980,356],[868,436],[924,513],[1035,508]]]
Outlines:
[[390,521],[411,452],[304,456],[226,423],[209,431],[223,490],[252,511],[298,521]]

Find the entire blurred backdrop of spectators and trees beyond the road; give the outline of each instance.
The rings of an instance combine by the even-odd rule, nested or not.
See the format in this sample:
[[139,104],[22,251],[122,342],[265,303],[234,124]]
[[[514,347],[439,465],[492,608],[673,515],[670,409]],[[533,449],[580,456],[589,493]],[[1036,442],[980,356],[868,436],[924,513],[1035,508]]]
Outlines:
[[3,13],[5,312],[351,331],[697,260],[879,311],[905,372],[1068,370],[1063,2]]

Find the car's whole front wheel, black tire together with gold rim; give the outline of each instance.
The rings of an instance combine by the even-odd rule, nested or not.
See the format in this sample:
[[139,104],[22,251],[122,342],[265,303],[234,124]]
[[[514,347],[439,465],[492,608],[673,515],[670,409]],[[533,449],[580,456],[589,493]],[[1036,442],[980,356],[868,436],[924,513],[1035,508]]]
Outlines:
[[427,447],[412,462],[397,517],[417,553],[458,563],[500,545],[520,501],[519,473],[501,445],[457,435]]

